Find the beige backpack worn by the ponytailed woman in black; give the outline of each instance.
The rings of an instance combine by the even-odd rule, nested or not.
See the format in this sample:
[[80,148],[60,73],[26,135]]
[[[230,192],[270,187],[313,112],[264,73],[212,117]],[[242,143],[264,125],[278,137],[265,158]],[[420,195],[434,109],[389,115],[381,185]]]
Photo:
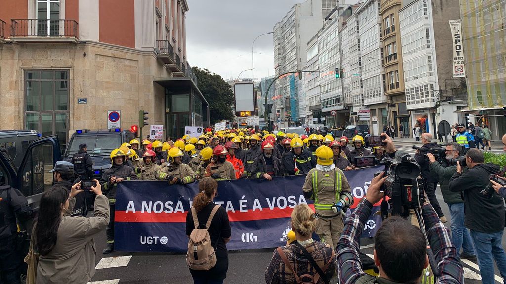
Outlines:
[[[216,265],[216,250],[211,244],[211,238],[207,229],[211,221],[213,221],[218,208],[220,208],[220,205],[215,205],[215,208],[211,211],[207,223],[205,223],[205,229],[198,229],[197,212],[193,206],[191,207],[195,228],[191,231],[190,241],[188,242],[188,253],[186,254],[186,264],[190,269],[209,270]],[[218,243],[215,244],[215,247],[216,245]]]

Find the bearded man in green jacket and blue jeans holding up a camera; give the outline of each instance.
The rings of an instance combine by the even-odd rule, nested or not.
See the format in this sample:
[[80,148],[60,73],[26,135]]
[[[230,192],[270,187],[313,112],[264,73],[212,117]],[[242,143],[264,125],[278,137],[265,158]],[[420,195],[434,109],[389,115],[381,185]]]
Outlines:
[[[457,143],[446,144],[446,160],[458,158],[460,154],[462,154],[461,151],[462,148]],[[476,260],[473,239],[471,239],[469,230],[464,227],[464,201],[459,192],[454,193],[449,189],[450,178],[457,171],[457,166],[447,163],[442,165],[440,162],[436,161],[436,157],[430,153],[427,154],[427,157],[431,163],[431,171],[438,175],[443,200],[450,210],[451,239],[455,249],[457,253],[459,253],[460,247],[462,247],[462,253],[460,254],[461,259]]]

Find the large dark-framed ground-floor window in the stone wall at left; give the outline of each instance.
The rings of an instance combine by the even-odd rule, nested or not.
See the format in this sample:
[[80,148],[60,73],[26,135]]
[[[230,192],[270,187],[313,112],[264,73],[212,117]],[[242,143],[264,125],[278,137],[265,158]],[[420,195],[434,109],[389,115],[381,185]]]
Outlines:
[[42,136],[58,135],[62,149],[67,143],[68,70],[25,71],[25,129]]

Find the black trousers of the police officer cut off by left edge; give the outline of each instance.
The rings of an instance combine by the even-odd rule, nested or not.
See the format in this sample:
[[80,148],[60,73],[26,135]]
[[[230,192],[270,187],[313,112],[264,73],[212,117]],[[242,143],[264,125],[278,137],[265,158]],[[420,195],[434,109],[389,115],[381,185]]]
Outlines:
[[[0,274],[2,284],[19,284],[19,271],[21,258],[16,251],[16,236],[0,240]],[[26,273],[26,272],[25,272]]]

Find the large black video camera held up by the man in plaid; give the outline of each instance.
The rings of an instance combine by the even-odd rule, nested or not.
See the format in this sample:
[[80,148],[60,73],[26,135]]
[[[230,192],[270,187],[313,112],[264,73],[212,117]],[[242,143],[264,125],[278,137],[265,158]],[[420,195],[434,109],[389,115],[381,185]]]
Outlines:
[[390,198],[392,214],[407,217],[409,209],[418,208],[425,202],[424,182],[419,177],[418,164],[407,153],[384,158],[379,163],[385,165],[388,175],[382,191]]

